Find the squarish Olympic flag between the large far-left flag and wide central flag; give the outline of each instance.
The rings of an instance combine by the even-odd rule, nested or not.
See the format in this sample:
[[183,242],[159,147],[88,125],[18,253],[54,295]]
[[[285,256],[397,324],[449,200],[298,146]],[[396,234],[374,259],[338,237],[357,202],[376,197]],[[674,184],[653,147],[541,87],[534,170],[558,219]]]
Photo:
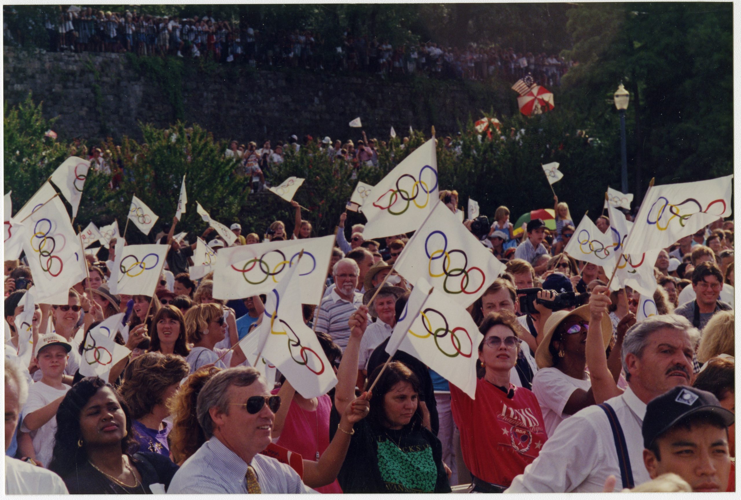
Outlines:
[[165,267],[167,250],[170,250],[167,244],[130,244],[119,251],[116,244],[116,261],[110,275],[111,293],[151,297]]

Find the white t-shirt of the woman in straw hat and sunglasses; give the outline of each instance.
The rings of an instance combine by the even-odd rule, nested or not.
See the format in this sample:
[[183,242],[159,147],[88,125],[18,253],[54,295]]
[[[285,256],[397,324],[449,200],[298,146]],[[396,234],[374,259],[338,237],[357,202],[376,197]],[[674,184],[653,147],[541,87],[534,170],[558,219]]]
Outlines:
[[540,410],[545,421],[545,433],[553,436],[556,427],[570,415],[563,413],[568,399],[576,389],[589,390],[592,382],[588,374],[585,379],[574,379],[558,368],[541,368],[533,379],[533,393],[540,403]]

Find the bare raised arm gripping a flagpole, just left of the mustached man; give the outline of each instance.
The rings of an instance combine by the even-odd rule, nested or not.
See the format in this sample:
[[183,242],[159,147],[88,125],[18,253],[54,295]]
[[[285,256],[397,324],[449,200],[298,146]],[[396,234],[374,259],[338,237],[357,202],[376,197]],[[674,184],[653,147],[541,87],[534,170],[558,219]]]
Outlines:
[[617,383],[608,368],[605,344],[602,341],[602,315],[608,314],[608,307],[612,303],[610,297],[605,295],[606,291],[607,287],[594,287],[594,291],[589,297],[590,319],[586,354],[589,378],[592,381],[591,390],[597,404],[622,394],[622,390],[617,387]]

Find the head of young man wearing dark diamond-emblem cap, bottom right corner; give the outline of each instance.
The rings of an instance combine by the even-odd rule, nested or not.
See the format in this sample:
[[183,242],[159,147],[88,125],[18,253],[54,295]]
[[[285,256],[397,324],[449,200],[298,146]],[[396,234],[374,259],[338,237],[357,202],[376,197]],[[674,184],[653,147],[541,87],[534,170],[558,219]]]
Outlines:
[[648,475],[675,473],[692,491],[726,491],[728,426],[733,423],[734,414],[713,394],[694,387],[674,387],[651,400],[642,429]]

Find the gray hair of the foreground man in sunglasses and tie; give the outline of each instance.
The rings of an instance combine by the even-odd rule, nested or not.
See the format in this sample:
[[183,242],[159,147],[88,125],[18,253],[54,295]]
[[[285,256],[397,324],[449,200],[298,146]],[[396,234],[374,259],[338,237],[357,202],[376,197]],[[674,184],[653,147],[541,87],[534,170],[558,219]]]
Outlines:
[[219,413],[229,413],[229,387],[247,387],[260,377],[260,372],[253,367],[233,367],[216,373],[203,386],[196,401],[196,416],[203,433],[208,439],[213,436],[213,420],[209,413],[216,408]]

